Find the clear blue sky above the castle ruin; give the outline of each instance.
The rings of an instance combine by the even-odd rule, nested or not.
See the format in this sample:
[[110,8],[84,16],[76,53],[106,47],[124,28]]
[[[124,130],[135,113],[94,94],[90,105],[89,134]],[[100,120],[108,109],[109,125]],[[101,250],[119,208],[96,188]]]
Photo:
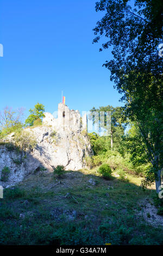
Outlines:
[[71,109],[121,106],[121,95],[102,67],[111,49],[99,52],[92,29],[104,13],[97,0],[1,0],[0,110],[37,102],[53,113],[64,91]]

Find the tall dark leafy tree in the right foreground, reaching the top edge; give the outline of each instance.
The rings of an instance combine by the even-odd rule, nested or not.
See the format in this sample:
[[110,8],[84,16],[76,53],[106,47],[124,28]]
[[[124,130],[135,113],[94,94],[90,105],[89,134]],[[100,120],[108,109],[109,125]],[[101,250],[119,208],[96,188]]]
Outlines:
[[[122,101],[126,101],[127,118],[139,127],[144,151],[152,163],[156,192],[161,185],[162,169],[162,59],[156,46],[162,42],[162,4],[160,0],[135,0],[134,9],[128,0],[101,0],[97,11],[105,11],[95,29],[98,42],[107,41],[103,49],[113,46],[114,59],[104,66],[111,71],[111,80]],[[100,48],[100,51],[102,51]],[[146,181],[153,182],[151,176]]]

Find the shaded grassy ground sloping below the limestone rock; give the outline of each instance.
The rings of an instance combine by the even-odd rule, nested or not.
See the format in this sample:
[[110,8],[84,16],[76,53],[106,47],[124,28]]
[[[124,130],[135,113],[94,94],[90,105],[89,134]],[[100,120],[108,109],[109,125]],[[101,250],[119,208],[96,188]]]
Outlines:
[[61,178],[38,170],[5,189],[0,244],[162,245],[155,191],[143,191],[140,182],[133,175],[123,181],[115,173],[105,180],[96,169],[67,171]]

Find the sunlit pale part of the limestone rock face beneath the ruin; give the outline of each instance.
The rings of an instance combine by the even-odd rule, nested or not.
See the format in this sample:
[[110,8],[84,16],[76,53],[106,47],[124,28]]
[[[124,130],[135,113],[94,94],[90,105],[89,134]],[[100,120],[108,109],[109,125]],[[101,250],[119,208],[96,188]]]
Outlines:
[[[57,165],[65,166],[66,170],[81,169],[85,167],[85,156],[92,154],[89,139],[80,132],[68,130],[56,132],[52,127],[46,126],[35,127],[29,131],[37,140],[37,146],[30,156],[49,169]],[[31,163],[27,164],[28,168],[29,164],[32,168],[34,163],[31,160]]]

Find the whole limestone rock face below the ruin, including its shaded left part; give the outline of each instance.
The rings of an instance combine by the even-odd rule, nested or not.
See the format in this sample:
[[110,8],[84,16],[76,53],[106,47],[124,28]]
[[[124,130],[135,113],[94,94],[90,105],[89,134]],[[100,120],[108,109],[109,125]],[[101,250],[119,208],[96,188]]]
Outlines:
[[[2,169],[10,169],[9,179],[0,181],[0,185],[7,187],[23,180],[40,166],[49,171],[57,165],[63,165],[66,170],[78,170],[86,167],[85,156],[92,155],[91,144],[86,132],[70,129],[54,130],[54,127],[38,126],[27,128],[37,141],[35,149],[26,154],[22,163],[17,163],[20,153],[16,150],[8,151],[5,145],[0,147],[0,178]],[[13,136],[10,140],[12,141]],[[24,153],[25,155],[25,153]]]

